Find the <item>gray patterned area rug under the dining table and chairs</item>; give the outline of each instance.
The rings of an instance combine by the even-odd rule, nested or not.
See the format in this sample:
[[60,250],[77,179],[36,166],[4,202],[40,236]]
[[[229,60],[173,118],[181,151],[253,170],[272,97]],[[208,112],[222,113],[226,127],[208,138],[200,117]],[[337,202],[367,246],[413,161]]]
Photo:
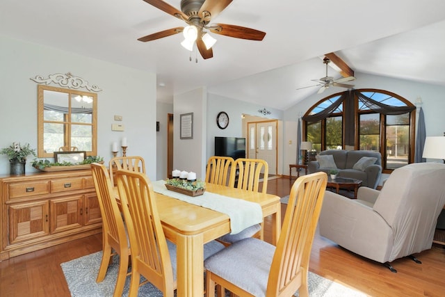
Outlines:
[[[116,256],[117,257],[117,256]],[[108,297],[113,296],[116,278],[118,276],[119,261],[114,259],[113,264],[108,267],[106,277],[103,282],[97,283],[96,277],[99,271],[102,252],[95,252],[70,262],[60,264],[67,280],[68,288],[73,297]],[[125,282],[124,293],[128,296],[130,276]],[[149,282],[139,288],[138,296],[163,296],[161,291],[156,289]],[[296,293],[298,296],[298,293]],[[362,292],[355,291],[332,280],[309,272],[309,296],[366,296]]]

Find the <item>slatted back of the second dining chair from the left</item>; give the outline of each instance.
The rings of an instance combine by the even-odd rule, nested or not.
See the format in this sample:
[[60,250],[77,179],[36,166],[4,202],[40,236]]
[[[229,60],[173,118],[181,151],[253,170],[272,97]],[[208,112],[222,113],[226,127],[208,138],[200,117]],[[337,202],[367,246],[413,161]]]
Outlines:
[[123,169],[116,172],[116,179],[130,239],[132,273],[142,274],[164,296],[172,296],[176,285],[152,184],[145,174]]

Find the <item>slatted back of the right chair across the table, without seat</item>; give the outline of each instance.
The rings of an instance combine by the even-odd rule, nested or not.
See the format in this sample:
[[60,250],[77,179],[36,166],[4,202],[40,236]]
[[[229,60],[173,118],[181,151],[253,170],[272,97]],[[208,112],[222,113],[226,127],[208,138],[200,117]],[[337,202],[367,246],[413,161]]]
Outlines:
[[[243,190],[258,192],[260,174],[264,173],[263,187],[261,193],[267,192],[269,166],[261,159],[238,158],[235,161],[235,167],[238,170],[238,183],[236,184],[236,170],[231,170],[230,184]],[[236,185],[235,185],[236,184]]]

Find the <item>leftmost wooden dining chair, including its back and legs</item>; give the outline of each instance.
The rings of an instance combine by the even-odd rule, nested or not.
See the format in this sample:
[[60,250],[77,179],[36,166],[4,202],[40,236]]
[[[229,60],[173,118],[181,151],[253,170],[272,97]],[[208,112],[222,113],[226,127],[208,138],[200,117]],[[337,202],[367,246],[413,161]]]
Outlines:
[[92,163],[91,171],[102,214],[102,262],[96,282],[104,280],[113,255],[120,255],[118,279],[113,294],[118,297],[122,295],[125,278],[129,274],[127,273],[131,255],[129,241],[108,170],[102,164]]

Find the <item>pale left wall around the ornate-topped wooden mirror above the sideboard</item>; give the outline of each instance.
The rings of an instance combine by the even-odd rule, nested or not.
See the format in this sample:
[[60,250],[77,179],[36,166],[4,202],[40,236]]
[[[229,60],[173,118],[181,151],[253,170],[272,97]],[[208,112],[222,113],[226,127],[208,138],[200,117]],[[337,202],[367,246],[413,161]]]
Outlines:
[[[102,88],[97,93],[97,154],[108,163],[111,143],[126,136],[127,155],[143,156],[147,175],[156,179],[156,74],[3,36],[0,49],[0,147],[19,141],[37,148],[38,84],[30,78],[71,72]],[[122,115],[117,123],[124,132],[111,131],[114,115]],[[26,172],[35,171],[31,161]],[[0,155],[0,175],[8,174],[8,159]]]

